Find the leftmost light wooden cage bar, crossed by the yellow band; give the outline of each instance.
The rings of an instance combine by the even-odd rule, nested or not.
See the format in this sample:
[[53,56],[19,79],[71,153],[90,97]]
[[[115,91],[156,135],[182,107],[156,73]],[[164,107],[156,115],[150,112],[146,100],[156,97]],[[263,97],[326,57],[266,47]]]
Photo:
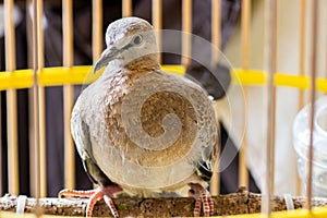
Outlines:
[[[13,0],[4,0],[4,49],[5,70],[15,70],[15,33],[13,23]],[[19,145],[17,145],[17,101],[16,90],[7,90],[7,122],[8,122],[8,190],[19,194]]]

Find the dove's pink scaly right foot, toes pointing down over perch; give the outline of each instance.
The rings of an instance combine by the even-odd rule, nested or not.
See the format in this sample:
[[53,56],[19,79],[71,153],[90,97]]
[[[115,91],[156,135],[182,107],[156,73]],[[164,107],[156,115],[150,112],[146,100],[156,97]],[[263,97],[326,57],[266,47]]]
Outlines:
[[199,217],[201,207],[203,205],[203,214],[205,217],[214,216],[214,199],[210,193],[201,184],[190,183],[190,194],[195,198],[194,217]]

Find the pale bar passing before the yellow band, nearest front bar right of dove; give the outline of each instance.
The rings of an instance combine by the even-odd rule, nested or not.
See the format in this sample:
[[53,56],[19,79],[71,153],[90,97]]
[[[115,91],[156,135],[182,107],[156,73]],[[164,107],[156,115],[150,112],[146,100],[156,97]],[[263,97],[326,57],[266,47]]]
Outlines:
[[272,158],[274,158],[274,120],[275,120],[275,86],[274,75],[276,72],[276,0],[266,1],[266,72],[268,81],[268,105],[267,105],[267,146],[266,146],[266,182],[263,190],[262,213],[270,216],[271,205],[270,196],[274,181],[272,174]]

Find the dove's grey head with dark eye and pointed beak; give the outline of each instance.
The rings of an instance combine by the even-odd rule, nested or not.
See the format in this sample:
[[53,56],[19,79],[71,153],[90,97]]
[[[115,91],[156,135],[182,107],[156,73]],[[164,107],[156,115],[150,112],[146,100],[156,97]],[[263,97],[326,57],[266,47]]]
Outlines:
[[106,33],[107,48],[94,65],[94,72],[109,62],[126,65],[138,60],[158,64],[158,48],[153,26],[138,17],[124,17],[111,23]]

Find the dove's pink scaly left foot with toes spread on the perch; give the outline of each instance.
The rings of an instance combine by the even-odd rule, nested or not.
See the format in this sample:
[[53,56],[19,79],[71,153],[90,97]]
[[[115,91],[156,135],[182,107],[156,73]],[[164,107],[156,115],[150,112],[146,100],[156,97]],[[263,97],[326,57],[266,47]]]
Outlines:
[[62,190],[59,192],[58,197],[62,196],[70,196],[70,197],[86,197],[89,198],[86,207],[86,217],[93,216],[93,208],[96,205],[96,203],[104,198],[106,204],[108,205],[111,215],[113,217],[119,217],[118,210],[116,209],[116,206],[113,204],[112,197],[113,194],[117,192],[122,191],[120,186],[118,185],[107,185],[107,186],[100,186],[95,190],[89,191],[77,191],[77,190]]

